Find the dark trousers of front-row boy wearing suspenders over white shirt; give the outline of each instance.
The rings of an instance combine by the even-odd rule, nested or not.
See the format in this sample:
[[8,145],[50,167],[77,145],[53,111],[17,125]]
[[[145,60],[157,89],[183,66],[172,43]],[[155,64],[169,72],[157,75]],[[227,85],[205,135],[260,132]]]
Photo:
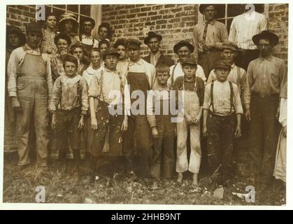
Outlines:
[[236,117],[216,116],[208,114],[208,161],[213,169],[220,167],[220,179],[218,185],[229,178],[229,167],[231,165],[232,141],[236,127]]

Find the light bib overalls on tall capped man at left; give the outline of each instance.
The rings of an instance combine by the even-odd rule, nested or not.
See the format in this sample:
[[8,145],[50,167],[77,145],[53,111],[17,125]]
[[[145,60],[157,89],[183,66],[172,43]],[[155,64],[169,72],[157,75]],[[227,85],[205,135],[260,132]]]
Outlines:
[[36,133],[36,162],[47,165],[49,142],[48,86],[45,62],[41,55],[24,56],[17,79],[17,95],[22,112],[17,113],[18,165],[27,165],[29,160],[29,135],[31,123]]

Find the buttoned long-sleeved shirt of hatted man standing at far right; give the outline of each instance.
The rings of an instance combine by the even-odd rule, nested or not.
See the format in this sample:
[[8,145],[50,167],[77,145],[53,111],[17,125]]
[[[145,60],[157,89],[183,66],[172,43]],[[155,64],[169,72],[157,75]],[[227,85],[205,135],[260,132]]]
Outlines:
[[259,57],[248,65],[245,108],[250,108],[251,92],[257,94],[280,94],[287,82],[285,62],[278,57]]

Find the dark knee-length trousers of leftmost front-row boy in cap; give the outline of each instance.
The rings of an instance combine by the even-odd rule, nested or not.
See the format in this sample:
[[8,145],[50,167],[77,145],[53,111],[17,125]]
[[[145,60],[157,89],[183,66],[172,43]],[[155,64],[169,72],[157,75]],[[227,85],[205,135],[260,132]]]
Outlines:
[[59,158],[64,159],[69,144],[73,150],[73,159],[80,159],[80,109],[56,112],[56,146],[59,149]]

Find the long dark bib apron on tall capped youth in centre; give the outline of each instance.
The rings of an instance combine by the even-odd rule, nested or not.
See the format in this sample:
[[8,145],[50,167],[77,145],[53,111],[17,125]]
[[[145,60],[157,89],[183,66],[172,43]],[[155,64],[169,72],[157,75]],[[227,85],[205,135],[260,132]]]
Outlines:
[[[146,73],[128,72],[127,82],[130,86],[130,93],[135,90],[141,90],[144,93],[146,107],[147,92],[150,90],[150,84],[148,83],[148,78]],[[136,99],[131,99],[131,111],[133,103]],[[144,115],[138,114],[136,116],[131,116],[129,118],[129,131],[125,135],[126,141],[130,144],[130,150],[133,151],[133,141],[134,141],[134,131],[136,137],[136,147],[138,155],[140,155],[140,169],[141,176],[150,177],[150,165],[152,162],[152,135],[150,130],[150,125],[146,117],[146,108],[144,109]]]

